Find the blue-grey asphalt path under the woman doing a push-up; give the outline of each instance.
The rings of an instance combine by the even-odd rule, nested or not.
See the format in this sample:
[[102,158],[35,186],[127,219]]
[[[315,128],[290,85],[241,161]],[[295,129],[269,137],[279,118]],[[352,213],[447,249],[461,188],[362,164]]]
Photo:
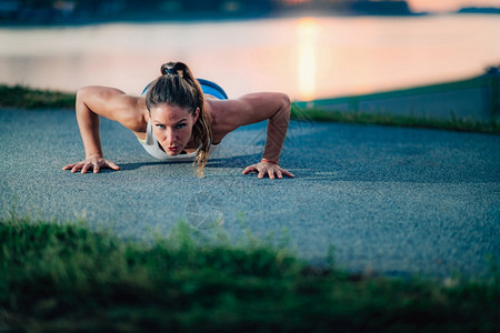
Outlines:
[[1,216],[76,221],[126,238],[168,233],[179,220],[231,238],[288,238],[312,264],[329,249],[350,271],[478,276],[500,256],[500,135],[291,122],[281,165],[294,179],[242,170],[261,158],[266,123],[230,133],[206,178],[191,163],[149,157],[102,120],[106,158],[122,168],[72,174],[83,158],[74,113],[0,110]]

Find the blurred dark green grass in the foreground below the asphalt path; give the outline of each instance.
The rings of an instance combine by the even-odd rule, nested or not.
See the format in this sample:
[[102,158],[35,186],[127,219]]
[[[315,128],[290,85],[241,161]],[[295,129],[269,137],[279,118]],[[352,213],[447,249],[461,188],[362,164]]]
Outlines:
[[0,332],[498,332],[499,282],[353,275],[184,223],[139,242],[0,221]]

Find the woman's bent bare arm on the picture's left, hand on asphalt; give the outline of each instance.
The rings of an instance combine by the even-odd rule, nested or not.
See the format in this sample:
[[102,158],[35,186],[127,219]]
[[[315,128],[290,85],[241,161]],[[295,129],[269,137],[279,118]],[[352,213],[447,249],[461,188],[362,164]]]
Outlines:
[[99,118],[118,121],[126,128],[141,132],[146,130],[143,99],[131,97],[123,91],[107,87],[84,87],[77,92],[77,120],[86,150],[86,159],[62,168],[71,172],[86,173],[90,169],[98,173],[100,169],[120,168],[103,158],[99,133]]

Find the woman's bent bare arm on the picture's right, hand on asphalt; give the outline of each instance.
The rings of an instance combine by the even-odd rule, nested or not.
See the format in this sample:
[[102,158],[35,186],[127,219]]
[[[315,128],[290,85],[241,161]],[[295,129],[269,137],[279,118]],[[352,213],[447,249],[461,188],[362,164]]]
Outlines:
[[[231,103],[231,101],[228,101]],[[290,121],[290,99],[283,93],[260,92],[250,93],[232,101],[227,118],[236,128],[269,120],[267,141],[262,160],[243,170],[243,174],[258,172],[259,178],[268,175],[270,179],[294,176],[279,167],[281,149],[287,137]]]

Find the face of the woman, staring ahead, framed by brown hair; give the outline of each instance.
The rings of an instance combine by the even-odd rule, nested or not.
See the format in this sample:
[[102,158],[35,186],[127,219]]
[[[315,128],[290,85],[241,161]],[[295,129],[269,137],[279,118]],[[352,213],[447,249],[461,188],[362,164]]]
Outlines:
[[191,141],[192,127],[200,109],[191,115],[188,109],[160,104],[151,108],[150,118],[158,142],[169,155],[178,155]]

